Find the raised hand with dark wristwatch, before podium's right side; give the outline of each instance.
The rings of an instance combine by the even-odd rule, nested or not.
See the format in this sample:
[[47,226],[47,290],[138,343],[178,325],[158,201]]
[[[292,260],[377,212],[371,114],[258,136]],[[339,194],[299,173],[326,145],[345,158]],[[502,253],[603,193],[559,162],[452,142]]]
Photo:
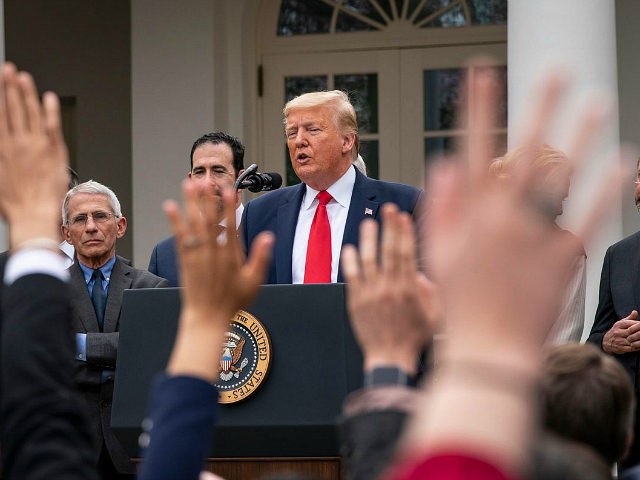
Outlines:
[[[347,245],[342,268],[351,324],[364,355],[364,369],[396,366],[416,372],[416,360],[439,320],[435,285],[416,270],[411,218],[395,205],[382,208],[378,224],[360,224],[360,249]],[[378,256],[380,254],[380,261]]]

